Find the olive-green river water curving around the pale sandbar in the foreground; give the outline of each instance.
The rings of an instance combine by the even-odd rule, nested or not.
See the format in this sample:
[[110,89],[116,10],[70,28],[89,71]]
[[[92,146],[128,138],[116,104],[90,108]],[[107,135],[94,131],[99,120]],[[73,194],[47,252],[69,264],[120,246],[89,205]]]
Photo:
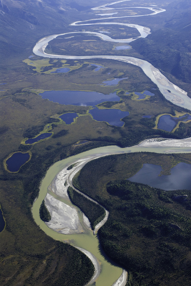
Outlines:
[[[56,162],[52,165],[49,170],[47,171],[46,176],[43,178],[41,183],[41,188],[39,192],[39,196],[34,202],[32,207],[32,214],[34,220],[37,225],[41,227],[41,229],[49,236],[56,240],[60,241],[68,241],[71,245],[82,247],[87,249],[91,252],[94,256],[98,258],[101,266],[101,273],[100,276],[96,280],[96,286],[111,286],[122,274],[122,268],[116,267],[109,263],[104,256],[99,252],[99,241],[96,235],[93,235],[92,231],[86,230],[85,233],[81,234],[60,234],[55,232],[54,230],[47,227],[47,225],[41,221],[39,216],[39,209],[40,205],[47,194],[47,187],[51,184],[54,177],[66,166],[71,165],[78,159],[83,159],[88,156],[104,156],[108,154],[117,154],[117,153],[124,153],[124,152],[156,152],[156,153],[166,153],[170,150],[176,153],[190,153],[191,147],[139,147],[133,146],[128,148],[120,148],[118,146],[106,146],[100,147],[96,149],[92,149],[75,156],[71,156],[67,159],[62,161]],[[170,153],[170,152],[169,152]],[[52,193],[51,193],[52,194]],[[58,199],[60,199],[57,196]],[[63,201],[62,199],[60,199]],[[78,210],[79,217],[82,218],[82,213]],[[95,284],[94,284],[95,285]]]

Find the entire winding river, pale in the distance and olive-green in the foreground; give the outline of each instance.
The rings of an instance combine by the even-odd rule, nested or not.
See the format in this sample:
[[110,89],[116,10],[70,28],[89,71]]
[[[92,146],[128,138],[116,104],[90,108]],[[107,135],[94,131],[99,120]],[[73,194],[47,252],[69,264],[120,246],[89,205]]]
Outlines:
[[[93,11],[97,10],[113,10],[113,9],[124,9],[123,8],[112,8],[110,6],[125,2],[130,0],[122,0],[122,1],[116,1],[112,3],[107,3],[102,6],[92,8]],[[136,28],[140,36],[139,37],[146,37],[148,34],[150,34],[150,29],[147,27],[143,27],[136,24],[126,24],[126,23],[119,23],[119,22],[99,22],[99,23],[92,23],[92,21],[95,20],[106,20],[106,19],[117,19],[117,18],[127,18],[127,17],[143,17],[148,15],[155,15],[161,12],[165,12],[165,9],[157,8],[157,7],[125,7],[125,8],[142,8],[142,9],[148,9],[151,11],[150,14],[144,14],[144,15],[133,15],[133,16],[115,16],[115,17],[104,17],[104,18],[94,18],[86,21],[77,21],[72,23],[72,26],[85,26],[85,25],[122,25],[122,26],[129,26],[132,28]],[[119,10],[120,11],[120,10]],[[114,14],[114,13],[111,13]],[[110,14],[110,15],[111,15]],[[115,13],[116,14],[116,13]],[[106,16],[106,14],[99,14],[102,16]],[[67,32],[63,34],[54,34],[47,36],[43,39],[40,39],[34,49],[34,54],[42,57],[48,57],[48,58],[61,58],[61,59],[112,59],[117,61],[123,61],[126,63],[130,63],[136,66],[139,66],[142,68],[144,73],[154,82],[157,84],[159,90],[164,95],[166,99],[171,101],[172,103],[188,108],[191,110],[191,99],[187,96],[187,93],[176,86],[175,84],[171,83],[157,68],[155,68],[153,65],[151,65],[149,62],[144,61],[142,59],[137,59],[134,57],[128,57],[128,56],[107,56],[107,55],[97,55],[97,56],[70,56],[70,55],[55,55],[55,54],[47,54],[45,53],[45,48],[49,41],[52,39],[55,39],[56,37],[60,35],[69,35],[69,34],[77,34],[77,33],[84,33],[84,34],[91,34],[93,36],[100,37],[104,41],[110,41],[115,43],[130,43],[131,41],[134,41],[135,39],[112,39],[108,35],[105,35],[103,33],[99,32]],[[137,38],[139,38],[137,37]],[[100,265],[101,265],[101,273],[100,276],[96,279],[96,285],[108,285],[111,286],[113,283],[119,278],[119,276],[122,273],[122,269],[119,267],[115,267],[114,265],[110,264],[109,262],[105,261],[104,257],[100,254],[98,248],[99,248],[99,241],[96,236],[93,236],[93,232],[90,230],[86,230],[84,233],[81,234],[61,234],[58,232],[53,231],[50,229],[43,221],[41,221],[39,217],[39,208],[40,205],[45,198],[47,194],[47,188],[51,184],[54,177],[61,171],[63,168],[77,162],[78,160],[92,160],[98,156],[105,156],[108,154],[117,154],[117,153],[123,153],[123,152],[137,152],[137,151],[150,151],[150,152],[191,152],[190,147],[152,147],[151,146],[132,146],[128,148],[120,148],[117,146],[106,146],[106,147],[100,147],[96,148],[87,152],[83,152],[81,154],[72,156],[70,158],[64,159],[60,162],[55,163],[50,169],[47,171],[47,174],[45,178],[42,181],[41,189],[38,198],[34,202],[32,213],[33,217],[36,221],[36,223],[43,229],[45,233],[47,233],[49,236],[51,236],[54,239],[61,240],[61,241],[69,241],[72,245],[77,247],[82,247],[84,249],[87,249],[90,251],[96,258],[98,259]],[[57,197],[59,199],[59,197]],[[61,198],[60,198],[61,200]],[[80,212],[79,216],[82,216]],[[115,285],[125,285],[125,278],[122,278],[123,282]]]

